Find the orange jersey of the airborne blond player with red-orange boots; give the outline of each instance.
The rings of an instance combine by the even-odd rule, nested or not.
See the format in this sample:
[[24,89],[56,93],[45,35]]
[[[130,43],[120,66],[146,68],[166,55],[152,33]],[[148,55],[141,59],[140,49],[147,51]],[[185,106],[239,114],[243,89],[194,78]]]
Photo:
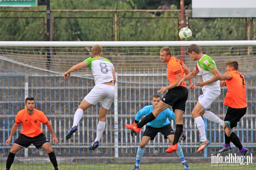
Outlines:
[[[183,61],[177,59],[176,57],[171,57],[171,59],[167,63],[167,77],[170,82],[170,84],[173,84],[177,81],[177,78],[175,76],[181,76],[182,78],[185,77],[184,75],[184,69],[183,69]],[[186,83],[179,85],[186,87]]]

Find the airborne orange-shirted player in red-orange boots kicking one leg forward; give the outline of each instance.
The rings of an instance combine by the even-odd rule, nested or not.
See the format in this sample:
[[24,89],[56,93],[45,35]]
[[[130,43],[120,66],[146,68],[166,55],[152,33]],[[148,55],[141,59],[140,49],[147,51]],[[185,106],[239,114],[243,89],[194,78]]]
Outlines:
[[[161,102],[154,108],[154,110],[145,116],[141,122],[138,124],[134,123],[132,125],[126,124],[125,126],[136,132],[140,132],[141,128],[148,122],[154,120],[158,114],[160,114],[160,112],[169,107],[172,107],[173,112],[175,112],[176,130],[174,133],[173,144],[166,150],[166,152],[174,152],[177,150],[177,143],[183,131],[182,116],[185,112],[186,101],[188,97],[188,90],[185,82],[179,86],[177,86],[177,84],[183,77],[185,77],[184,73],[187,75],[190,73],[190,71],[188,67],[183,63],[183,61],[172,56],[172,50],[167,46],[160,50],[160,59],[163,63],[167,63],[167,77],[170,85],[162,87],[157,92],[161,94],[166,90],[168,90],[168,92],[164,95],[164,97],[161,99]],[[195,89],[192,80],[189,80],[189,84],[189,88],[191,90]]]

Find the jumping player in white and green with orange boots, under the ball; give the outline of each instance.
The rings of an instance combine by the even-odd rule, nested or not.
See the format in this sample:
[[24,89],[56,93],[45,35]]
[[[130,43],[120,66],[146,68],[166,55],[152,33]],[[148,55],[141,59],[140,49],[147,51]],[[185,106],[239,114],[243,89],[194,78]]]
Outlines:
[[198,73],[203,77],[203,81],[197,82],[198,86],[203,87],[203,94],[198,97],[198,102],[191,113],[197,124],[199,134],[201,135],[201,142],[199,143],[199,148],[197,150],[197,152],[200,152],[210,144],[210,141],[208,141],[206,137],[205,122],[203,118],[220,124],[228,136],[230,135],[230,122],[224,122],[214,113],[205,111],[205,109],[210,108],[212,102],[220,95],[219,79],[221,75],[214,60],[210,58],[210,56],[203,54],[196,44],[191,44],[187,49],[187,53],[191,59],[197,61],[197,66],[191,73],[182,78],[178,85],[183,84],[185,80],[194,78]]

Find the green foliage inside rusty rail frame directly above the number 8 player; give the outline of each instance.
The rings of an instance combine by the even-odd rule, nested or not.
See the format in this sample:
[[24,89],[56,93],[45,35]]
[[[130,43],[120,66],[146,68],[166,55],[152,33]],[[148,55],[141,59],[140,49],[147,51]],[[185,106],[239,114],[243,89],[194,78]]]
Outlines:
[[112,30],[111,18],[58,18],[53,35],[54,41],[112,41]]

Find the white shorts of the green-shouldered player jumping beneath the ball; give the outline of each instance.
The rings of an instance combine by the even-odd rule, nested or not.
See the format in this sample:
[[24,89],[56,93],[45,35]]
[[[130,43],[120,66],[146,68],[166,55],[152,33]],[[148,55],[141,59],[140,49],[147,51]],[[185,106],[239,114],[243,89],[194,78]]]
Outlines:
[[203,94],[198,97],[198,101],[205,109],[209,109],[211,107],[212,102],[219,97],[220,88],[202,88],[202,92]]

